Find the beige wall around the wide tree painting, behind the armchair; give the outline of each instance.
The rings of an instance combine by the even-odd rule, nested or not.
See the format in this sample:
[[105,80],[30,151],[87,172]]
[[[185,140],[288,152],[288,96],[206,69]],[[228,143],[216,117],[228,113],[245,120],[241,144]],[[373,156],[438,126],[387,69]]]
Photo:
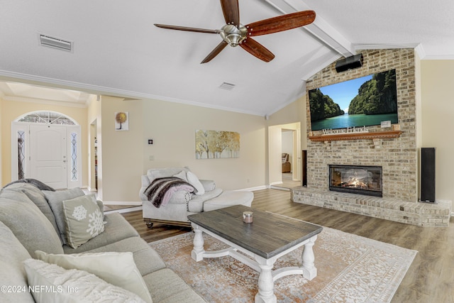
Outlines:
[[[142,115],[143,173],[150,167],[189,166],[197,177],[213,179],[223,189],[265,185],[263,117],[158,100],[143,101]],[[240,133],[240,157],[196,160],[196,129]]]

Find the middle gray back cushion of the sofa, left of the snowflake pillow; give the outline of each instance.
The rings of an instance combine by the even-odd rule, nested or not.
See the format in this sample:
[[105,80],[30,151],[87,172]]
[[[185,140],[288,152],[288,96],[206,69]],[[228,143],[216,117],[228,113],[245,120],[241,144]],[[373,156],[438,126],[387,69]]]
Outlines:
[[23,192],[25,199],[0,197],[0,221],[8,226],[32,257],[35,250],[63,253],[62,243],[54,227]]

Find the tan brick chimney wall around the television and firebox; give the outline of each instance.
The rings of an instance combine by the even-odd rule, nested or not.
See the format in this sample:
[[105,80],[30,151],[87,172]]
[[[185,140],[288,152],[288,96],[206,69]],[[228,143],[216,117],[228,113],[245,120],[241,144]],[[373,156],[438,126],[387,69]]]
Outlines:
[[[306,82],[307,130],[311,131],[310,89],[343,82],[377,72],[396,70],[399,138],[347,141],[307,141],[307,188],[328,190],[328,165],[381,165],[383,198],[417,202],[418,153],[416,150],[416,99],[413,49],[362,50],[363,65],[336,72],[336,62]],[[369,132],[390,128],[367,126]],[[321,131],[314,131],[314,136]]]

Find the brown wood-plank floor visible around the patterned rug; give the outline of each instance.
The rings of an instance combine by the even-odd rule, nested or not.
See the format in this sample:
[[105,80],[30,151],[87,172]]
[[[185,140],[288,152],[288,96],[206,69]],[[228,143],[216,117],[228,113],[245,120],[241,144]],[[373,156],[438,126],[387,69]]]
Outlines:
[[[292,216],[358,236],[418,250],[419,253],[406,272],[392,302],[454,302],[454,219],[451,219],[449,227],[411,226],[294,203],[290,199],[290,192],[279,189],[255,191],[252,206],[255,209]],[[190,228],[160,224],[149,229],[143,222],[142,211],[124,213],[123,216],[147,242],[190,231]]]

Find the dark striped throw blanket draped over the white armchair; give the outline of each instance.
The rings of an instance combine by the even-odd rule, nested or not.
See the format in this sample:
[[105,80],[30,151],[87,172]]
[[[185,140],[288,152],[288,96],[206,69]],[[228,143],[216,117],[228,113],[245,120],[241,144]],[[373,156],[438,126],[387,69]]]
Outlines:
[[194,187],[188,182],[177,177],[156,178],[143,192],[153,206],[160,208],[169,202],[172,194],[177,190],[194,192]]

